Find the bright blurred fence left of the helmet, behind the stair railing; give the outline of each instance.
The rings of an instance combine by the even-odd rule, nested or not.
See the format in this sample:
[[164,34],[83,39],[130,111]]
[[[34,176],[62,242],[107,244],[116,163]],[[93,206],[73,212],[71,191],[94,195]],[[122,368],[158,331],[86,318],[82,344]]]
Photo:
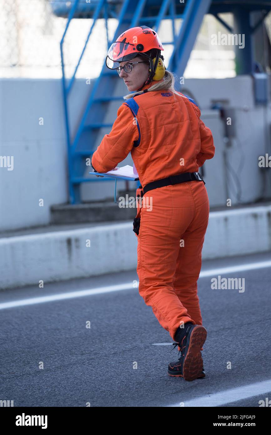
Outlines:
[[[114,32],[117,20],[110,19]],[[93,20],[74,18],[64,40],[64,62],[71,77]],[[49,0],[0,1],[0,77],[60,78],[60,40],[67,18],[57,17]],[[113,35],[111,35],[113,37]],[[97,20],[77,77],[97,77],[107,51],[104,20]]]

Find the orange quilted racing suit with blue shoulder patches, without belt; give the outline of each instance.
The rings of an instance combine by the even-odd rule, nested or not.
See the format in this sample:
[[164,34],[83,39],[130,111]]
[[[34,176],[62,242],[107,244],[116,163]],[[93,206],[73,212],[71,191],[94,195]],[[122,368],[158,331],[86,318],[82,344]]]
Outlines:
[[[112,130],[92,156],[96,171],[112,170],[130,152],[144,188],[198,171],[214,157],[212,133],[194,100],[171,90],[146,91],[156,83],[119,107]],[[144,198],[148,207],[143,201],[137,213],[139,294],[174,339],[183,322],[202,325],[197,280],[209,218],[207,190],[202,181],[187,181],[147,191]]]

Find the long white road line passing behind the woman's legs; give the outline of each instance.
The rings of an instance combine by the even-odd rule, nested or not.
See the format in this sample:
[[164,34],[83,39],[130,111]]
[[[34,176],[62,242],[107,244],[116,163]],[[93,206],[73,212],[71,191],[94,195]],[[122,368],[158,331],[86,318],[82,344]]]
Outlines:
[[[201,271],[200,278],[208,276],[214,277],[218,274],[229,274],[231,272],[247,271],[253,269],[270,268],[271,260],[260,261],[257,263],[238,264],[235,266],[228,266],[225,268],[210,269]],[[37,296],[35,298],[20,299],[17,301],[0,303],[0,310],[5,308],[22,307],[24,305],[41,304],[43,302],[61,301],[63,299],[80,298],[81,296],[92,296],[94,294],[110,293],[111,291],[132,290],[134,285],[132,282],[126,284],[107,285],[105,287],[89,288],[87,290],[69,291],[67,293],[51,294],[49,296]]]

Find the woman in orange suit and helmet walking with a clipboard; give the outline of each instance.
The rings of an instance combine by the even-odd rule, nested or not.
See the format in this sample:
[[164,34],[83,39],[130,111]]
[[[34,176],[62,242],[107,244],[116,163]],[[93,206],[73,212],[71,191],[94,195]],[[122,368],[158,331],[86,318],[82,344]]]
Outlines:
[[92,167],[110,171],[131,153],[138,190],[146,204],[152,201],[151,210],[140,207],[134,220],[139,293],[181,352],[168,374],[193,381],[205,376],[201,351],[207,336],[197,280],[209,200],[197,171],[214,157],[214,142],[194,100],[174,90],[161,50],[147,26],[125,31],[108,50],[107,67],[117,69],[131,94],[94,152]]

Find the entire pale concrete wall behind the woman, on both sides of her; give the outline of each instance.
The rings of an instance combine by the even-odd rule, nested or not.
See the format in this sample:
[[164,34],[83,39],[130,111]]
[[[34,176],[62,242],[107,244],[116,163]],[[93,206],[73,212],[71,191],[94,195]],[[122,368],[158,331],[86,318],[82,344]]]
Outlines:
[[[94,80],[89,85],[84,79],[76,80],[74,84],[69,97],[72,135],[93,84]],[[124,93],[125,90],[126,87]],[[187,91],[199,103],[202,119],[214,132],[216,156],[204,164],[210,204],[225,204],[228,197],[232,204],[237,202],[233,181],[228,192],[225,190],[223,125],[218,112],[210,110],[217,101],[224,101],[226,107],[235,110],[236,137],[227,152],[235,171],[240,164],[243,166],[240,175],[244,182],[242,201],[254,201],[268,185],[258,167],[258,156],[268,152],[271,111],[270,108],[254,106],[252,78],[187,79],[182,92]],[[108,116],[114,118],[115,112],[114,107]],[[39,125],[40,117],[43,117],[43,125]],[[90,144],[90,149],[92,146]],[[68,201],[61,80],[0,80],[0,156],[13,156],[13,170],[0,167],[0,230],[48,224],[50,206]],[[132,164],[130,155],[122,164]],[[135,185],[130,184],[132,188]],[[124,181],[117,182],[117,190],[124,189],[124,186]],[[113,200],[113,195],[114,182],[85,183],[82,186],[83,200],[105,197]],[[40,199],[43,199],[43,207],[39,205]]]

